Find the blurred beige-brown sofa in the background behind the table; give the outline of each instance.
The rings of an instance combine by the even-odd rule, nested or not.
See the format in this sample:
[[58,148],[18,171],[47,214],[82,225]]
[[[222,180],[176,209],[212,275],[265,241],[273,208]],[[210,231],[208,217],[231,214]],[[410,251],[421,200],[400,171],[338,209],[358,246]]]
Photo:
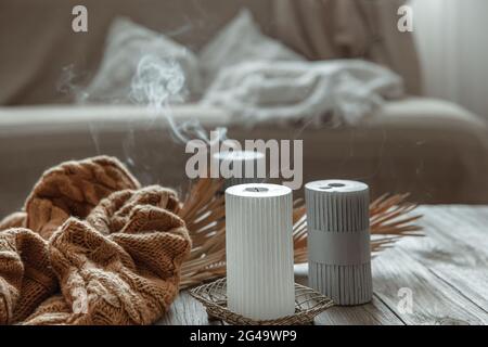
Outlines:
[[[244,1],[82,2],[93,18],[88,34],[69,33],[73,1],[0,4],[0,13],[9,18],[0,20],[0,216],[22,206],[44,169],[95,154],[118,156],[144,183],[187,187],[184,149],[171,139],[163,115],[152,117],[131,105],[74,106],[55,83],[61,68],[70,63],[95,72],[115,15],[175,33],[175,39],[197,50]],[[280,38],[275,3],[245,3],[265,31]],[[393,50],[397,42],[399,50],[409,48],[409,56],[415,56],[411,38],[394,39],[399,35],[394,31],[385,34],[385,49]],[[293,36],[282,39],[292,47],[296,42]],[[408,56],[403,62],[395,55],[390,59],[388,65],[402,74],[409,92],[419,93],[416,63]],[[229,137],[237,140],[303,139],[305,181],[352,178],[368,182],[373,195],[411,192],[419,203],[488,202],[485,121],[449,102],[410,97],[388,102],[357,127],[339,129],[273,125],[249,129],[232,124],[222,110],[196,104],[176,107],[174,116],[177,121],[196,117],[208,129],[228,126]]]

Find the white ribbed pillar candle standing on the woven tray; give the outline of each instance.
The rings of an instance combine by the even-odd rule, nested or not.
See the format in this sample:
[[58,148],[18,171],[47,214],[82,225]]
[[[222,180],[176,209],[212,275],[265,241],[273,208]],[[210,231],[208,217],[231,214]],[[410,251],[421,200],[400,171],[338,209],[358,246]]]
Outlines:
[[227,297],[255,320],[293,314],[292,191],[265,183],[226,190]]

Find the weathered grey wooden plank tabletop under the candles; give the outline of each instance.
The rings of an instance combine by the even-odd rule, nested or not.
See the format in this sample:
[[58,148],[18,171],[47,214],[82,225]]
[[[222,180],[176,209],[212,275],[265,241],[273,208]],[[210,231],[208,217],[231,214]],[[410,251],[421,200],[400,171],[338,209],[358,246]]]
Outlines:
[[[373,301],[333,307],[316,324],[487,324],[488,206],[418,211],[426,237],[406,237],[373,259]],[[295,272],[297,282],[306,281],[299,268]],[[412,294],[411,311],[400,304],[406,293]],[[203,306],[182,292],[158,324],[222,322],[209,322]]]

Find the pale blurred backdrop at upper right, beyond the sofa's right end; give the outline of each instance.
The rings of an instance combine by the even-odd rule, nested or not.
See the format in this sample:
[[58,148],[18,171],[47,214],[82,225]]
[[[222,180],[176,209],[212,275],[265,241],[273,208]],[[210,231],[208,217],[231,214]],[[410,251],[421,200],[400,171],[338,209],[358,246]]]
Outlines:
[[412,0],[424,91],[488,120],[488,1]]

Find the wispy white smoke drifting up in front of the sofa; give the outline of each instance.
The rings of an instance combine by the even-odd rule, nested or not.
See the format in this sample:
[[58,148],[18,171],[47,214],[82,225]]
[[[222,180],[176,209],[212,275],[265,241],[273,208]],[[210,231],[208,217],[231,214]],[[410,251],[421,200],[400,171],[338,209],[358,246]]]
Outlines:
[[[57,81],[57,91],[74,97],[79,104],[87,105],[92,97],[97,100],[104,101],[106,104],[124,104],[133,103],[147,107],[150,117],[131,118],[126,125],[126,134],[121,139],[121,151],[124,153],[124,162],[132,167],[143,183],[154,182],[151,174],[151,166],[155,162],[163,158],[144,157],[138,150],[136,129],[141,127],[141,123],[149,124],[152,127],[158,116],[163,116],[167,121],[168,131],[175,142],[187,145],[189,141],[198,139],[203,140],[207,145],[213,145],[219,141],[227,139],[227,129],[217,128],[219,136],[211,137],[209,132],[194,118],[187,121],[176,121],[171,105],[183,103],[188,97],[185,88],[185,75],[181,65],[176,59],[158,57],[155,55],[143,55],[133,68],[131,80],[127,81],[129,92],[126,98],[121,99],[104,99],[103,95],[91,95],[87,92],[89,74],[79,72],[74,64],[63,67],[61,77]],[[103,118],[92,124],[89,123],[90,136],[92,138],[95,152],[101,154],[104,152],[104,130],[101,125]],[[136,124],[137,123],[137,124]],[[145,127],[149,130],[149,127]],[[191,143],[191,142],[190,142]]]

